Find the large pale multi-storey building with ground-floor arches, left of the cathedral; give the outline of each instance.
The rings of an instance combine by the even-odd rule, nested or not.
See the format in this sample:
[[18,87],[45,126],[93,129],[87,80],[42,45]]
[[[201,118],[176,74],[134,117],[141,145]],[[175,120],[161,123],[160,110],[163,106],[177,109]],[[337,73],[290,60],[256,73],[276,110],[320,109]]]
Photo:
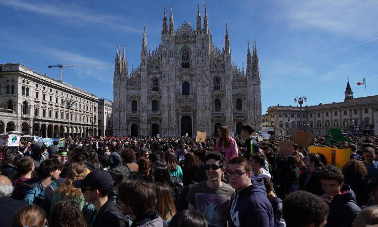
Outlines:
[[[73,101],[70,111],[68,99]],[[0,65],[0,134],[97,136],[97,106],[98,97],[84,90],[20,64]]]

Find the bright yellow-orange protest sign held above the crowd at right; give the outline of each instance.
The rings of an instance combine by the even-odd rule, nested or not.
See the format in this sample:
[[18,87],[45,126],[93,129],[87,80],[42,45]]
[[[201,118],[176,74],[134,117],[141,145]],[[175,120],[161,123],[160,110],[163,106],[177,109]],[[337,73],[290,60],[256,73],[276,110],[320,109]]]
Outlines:
[[332,164],[342,169],[345,163],[350,161],[350,148],[338,149],[332,147],[309,147],[310,153],[323,154],[326,158],[324,164]]

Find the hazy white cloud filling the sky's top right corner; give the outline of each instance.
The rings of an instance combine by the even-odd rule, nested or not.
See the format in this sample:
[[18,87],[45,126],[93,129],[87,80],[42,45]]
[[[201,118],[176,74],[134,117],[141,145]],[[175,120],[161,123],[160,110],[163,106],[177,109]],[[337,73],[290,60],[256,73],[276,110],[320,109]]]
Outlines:
[[378,1],[280,1],[280,19],[292,28],[321,29],[339,36],[358,39],[376,37]]

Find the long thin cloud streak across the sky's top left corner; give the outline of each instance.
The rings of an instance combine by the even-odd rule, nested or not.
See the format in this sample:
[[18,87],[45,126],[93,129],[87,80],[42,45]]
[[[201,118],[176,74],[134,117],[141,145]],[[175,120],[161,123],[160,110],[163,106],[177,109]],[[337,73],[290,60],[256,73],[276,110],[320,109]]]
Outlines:
[[128,25],[128,20],[131,20],[130,18],[127,19],[110,14],[94,13],[88,11],[87,9],[80,8],[77,5],[69,5],[66,2],[61,3],[60,5],[53,5],[51,2],[31,3],[29,1],[20,0],[0,0],[0,6],[27,11],[43,16],[64,19],[66,22],[70,22],[78,26],[83,26],[83,24],[95,24],[113,29],[119,29],[125,32],[141,33],[140,29],[136,29]]

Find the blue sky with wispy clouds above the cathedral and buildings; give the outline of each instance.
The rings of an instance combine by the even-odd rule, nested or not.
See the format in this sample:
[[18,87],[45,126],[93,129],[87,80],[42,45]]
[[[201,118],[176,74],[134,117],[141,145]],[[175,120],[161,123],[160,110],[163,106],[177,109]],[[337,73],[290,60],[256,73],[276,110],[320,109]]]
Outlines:
[[[237,4],[236,4],[237,3]],[[213,43],[222,48],[228,22],[233,62],[245,64],[247,41],[257,41],[263,113],[268,106],[342,101],[349,77],[366,78],[378,94],[378,1],[19,1],[0,0],[0,63],[19,62],[58,78],[48,65],[114,65],[125,44],[131,65],[140,63],[143,25],[151,49],[161,41],[164,5],[175,29],[196,25],[207,5]],[[169,14],[169,11],[168,11]],[[112,100],[114,68],[65,68],[64,80]]]

